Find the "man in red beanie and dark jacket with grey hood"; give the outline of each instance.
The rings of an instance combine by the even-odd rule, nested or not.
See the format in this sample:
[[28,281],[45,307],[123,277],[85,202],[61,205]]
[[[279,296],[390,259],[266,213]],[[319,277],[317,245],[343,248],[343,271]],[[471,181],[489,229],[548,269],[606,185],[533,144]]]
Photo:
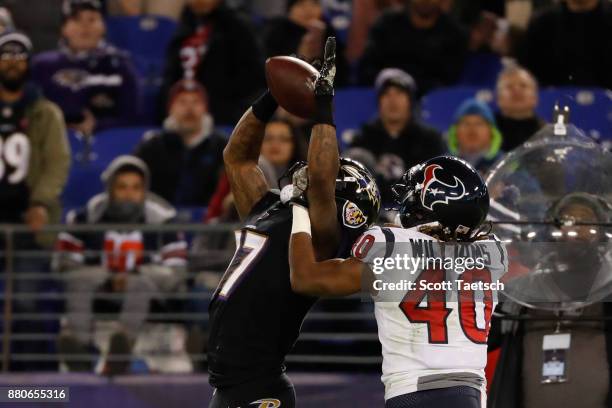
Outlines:
[[161,131],[145,134],[136,148],[151,171],[151,191],[175,206],[205,207],[223,166],[225,137],[215,132],[206,91],[182,80],[170,90]]

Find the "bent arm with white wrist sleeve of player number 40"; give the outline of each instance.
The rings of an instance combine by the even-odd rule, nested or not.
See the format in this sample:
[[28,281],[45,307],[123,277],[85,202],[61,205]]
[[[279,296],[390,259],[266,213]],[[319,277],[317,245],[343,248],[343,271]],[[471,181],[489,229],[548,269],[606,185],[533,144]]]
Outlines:
[[371,280],[368,266],[357,258],[317,262],[311,239],[308,211],[293,205],[293,226],[289,243],[291,288],[309,296],[348,296],[358,293],[364,278]]

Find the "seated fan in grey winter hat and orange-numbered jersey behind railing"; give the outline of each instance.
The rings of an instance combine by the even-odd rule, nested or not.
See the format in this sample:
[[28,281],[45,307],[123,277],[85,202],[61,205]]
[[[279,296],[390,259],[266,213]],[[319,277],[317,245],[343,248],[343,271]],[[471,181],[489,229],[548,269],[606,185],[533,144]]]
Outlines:
[[[93,369],[91,361],[74,355],[96,352],[92,330],[94,312],[100,312],[96,299],[108,294],[121,299],[120,329],[111,336],[108,355],[128,357],[150,302],[163,301],[163,293],[182,290],[185,282],[187,243],[182,235],[139,229],[144,224],[171,223],[176,216],[170,204],[149,192],[146,164],[134,156],[119,156],[101,179],[106,191],[84,208],[69,212],[68,224],[123,224],[124,228],[63,232],[54,254],[55,269],[66,272],[67,292],[66,325],[58,350],[71,371]],[[108,358],[103,372],[124,373],[129,365],[129,358]]]

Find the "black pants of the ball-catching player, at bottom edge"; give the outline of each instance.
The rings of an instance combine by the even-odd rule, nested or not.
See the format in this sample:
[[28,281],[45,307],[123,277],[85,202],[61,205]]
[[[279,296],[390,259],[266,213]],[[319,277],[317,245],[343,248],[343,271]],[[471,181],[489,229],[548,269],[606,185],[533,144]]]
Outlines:
[[216,388],[208,408],[294,408],[295,390],[287,375]]

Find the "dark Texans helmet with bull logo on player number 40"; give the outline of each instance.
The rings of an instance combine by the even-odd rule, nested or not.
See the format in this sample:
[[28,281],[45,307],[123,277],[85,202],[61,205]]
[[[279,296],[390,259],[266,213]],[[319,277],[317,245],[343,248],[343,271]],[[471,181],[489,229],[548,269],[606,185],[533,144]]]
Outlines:
[[429,159],[393,186],[406,228],[437,221],[449,234],[470,235],[489,211],[489,192],[478,172],[452,156]]

